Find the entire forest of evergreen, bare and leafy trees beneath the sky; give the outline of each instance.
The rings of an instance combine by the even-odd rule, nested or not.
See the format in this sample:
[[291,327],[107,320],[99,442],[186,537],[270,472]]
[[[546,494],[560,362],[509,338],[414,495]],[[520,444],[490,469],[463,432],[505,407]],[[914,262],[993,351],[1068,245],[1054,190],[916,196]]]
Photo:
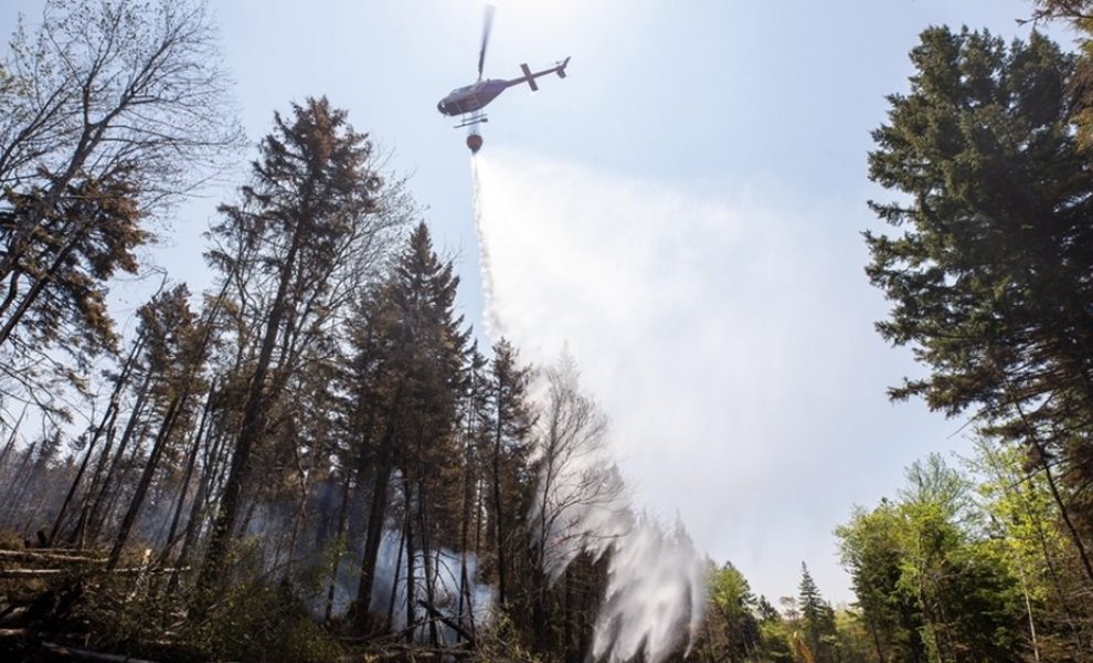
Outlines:
[[[838,604],[630,506],[575,361],[478,346],[349,110],[250,145],[205,3],[44,6],[0,62],[3,660],[1093,661],[1093,1],[1029,2],[1076,52],[925,29],[862,155],[877,332],[925,371],[889,396],[975,444],[848,505]],[[238,154],[214,285],[121,319]]]

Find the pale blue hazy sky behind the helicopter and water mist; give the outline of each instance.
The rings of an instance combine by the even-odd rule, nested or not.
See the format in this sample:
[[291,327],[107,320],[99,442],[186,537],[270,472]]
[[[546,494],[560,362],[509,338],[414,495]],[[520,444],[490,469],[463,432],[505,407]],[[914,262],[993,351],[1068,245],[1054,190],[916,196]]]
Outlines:
[[[573,60],[564,81],[488,109],[491,296],[464,131],[436,112],[474,80],[482,3],[210,4],[248,136],[308,95],[347,108],[456,259],[461,313],[529,360],[566,344],[637,502],[678,513],[756,592],[795,593],[806,561],[828,598],[849,599],[832,528],[894,493],[908,463],[966,448],[962,422],[884,398],[920,369],[872,329],[887,305],[859,233],[879,228],[866,200],[888,194],[866,154],[922,29],[1027,35],[1016,20],[1031,2],[496,2],[487,76]],[[3,32],[18,11],[33,21],[40,2],[6,2]],[[222,197],[182,207],[153,254],[194,290]]]

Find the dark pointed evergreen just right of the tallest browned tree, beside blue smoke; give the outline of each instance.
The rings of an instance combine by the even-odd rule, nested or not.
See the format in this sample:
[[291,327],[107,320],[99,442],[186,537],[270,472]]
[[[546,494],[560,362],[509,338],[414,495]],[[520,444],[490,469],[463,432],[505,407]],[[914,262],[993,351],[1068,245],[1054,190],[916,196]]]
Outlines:
[[[361,385],[362,393],[381,399],[369,433],[375,441],[371,453],[376,465],[357,597],[360,625],[365,625],[372,604],[380,541],[390,525],[389,484],[395,470],[402,488],[403,578],[421,575],[425,579],[425,601],[433,602],[437,550],[459,541],[464,454],[458,448],[456,414],[467,333],[463,318],[454,313],[458,283],[452,263],[441,261],[428,229],[420,223],[378,295],[374,326],[358,341],[359,351],[372,352],[375,361],[371,382]],[[378,348],[383,350],[376,352]],[[359,364],[367,365],[363,357]],[[423,562],[420,571],[418,558]],[[412,624],[418,608],[415,581],[406,588],[406,622]]]

